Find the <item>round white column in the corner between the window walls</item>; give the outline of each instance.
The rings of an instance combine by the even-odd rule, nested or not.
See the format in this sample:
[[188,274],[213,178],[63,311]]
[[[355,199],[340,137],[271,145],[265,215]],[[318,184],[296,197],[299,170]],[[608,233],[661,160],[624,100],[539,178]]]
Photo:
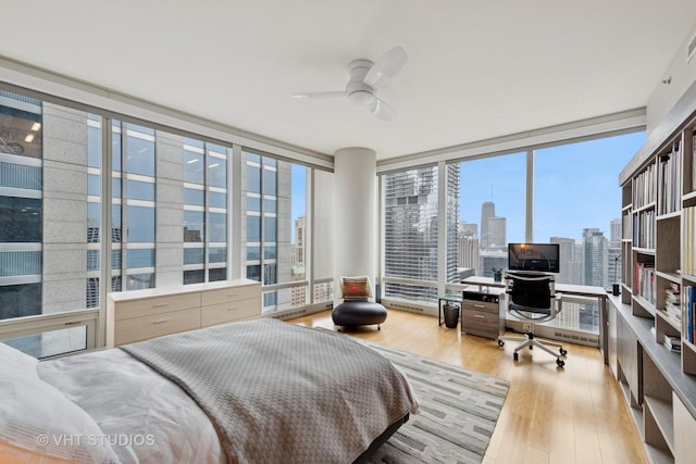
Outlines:
[[[351,147],[334,158],[334,277],[366,275],[373,290],[376,250],[376,154]],[[321,192],[319,192],[321,195]]]

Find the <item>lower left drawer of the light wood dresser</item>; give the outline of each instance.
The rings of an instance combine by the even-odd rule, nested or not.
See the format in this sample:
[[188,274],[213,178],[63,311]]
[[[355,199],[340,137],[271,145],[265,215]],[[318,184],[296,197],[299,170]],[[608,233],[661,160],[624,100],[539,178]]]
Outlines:
[[200,327],[200,308],[150,314],[116,321],[114,344],[130,343],[161,335],[192,330]]

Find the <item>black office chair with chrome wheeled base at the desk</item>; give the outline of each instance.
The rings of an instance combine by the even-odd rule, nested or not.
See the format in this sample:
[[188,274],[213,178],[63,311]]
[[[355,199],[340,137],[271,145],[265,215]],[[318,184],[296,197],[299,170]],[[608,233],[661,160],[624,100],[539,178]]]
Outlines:
[[[498,344],[505,346],[505,341],[520,341],[514,349],[512,358],[519,360],[518,351],[523,348],[538,347],[547,353],[556,356],[556,364],[563,367],[566,362],[561,356],[568,354],[560,343],[539,341],[534,338],[534,324],[544,323],[556,317],[560,312],[560,294],[555,291],[555,279],[550,274],[533,272],[506,272],[506,293],[508,299],[508,312],[530,325],[524,337],[499,337]],[[549,347],[558,348],[558,353]]]

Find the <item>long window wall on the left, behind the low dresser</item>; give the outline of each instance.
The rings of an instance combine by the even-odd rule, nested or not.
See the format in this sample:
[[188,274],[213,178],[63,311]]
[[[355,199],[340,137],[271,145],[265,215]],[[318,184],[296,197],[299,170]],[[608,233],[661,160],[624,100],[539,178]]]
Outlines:
[[[3,341],[37,358],[92,348],[112,291],[248,275],[263,281],[266,312],[331,301],[331,240],[308,291],[314,168],[271,153],[240,161],[232,143],[70,104],[0,90]],[[232,188],[235,172],[245,187]],[[331,186],[331,173],[318,178]],[[238,223],[246,234],[233,243]]]

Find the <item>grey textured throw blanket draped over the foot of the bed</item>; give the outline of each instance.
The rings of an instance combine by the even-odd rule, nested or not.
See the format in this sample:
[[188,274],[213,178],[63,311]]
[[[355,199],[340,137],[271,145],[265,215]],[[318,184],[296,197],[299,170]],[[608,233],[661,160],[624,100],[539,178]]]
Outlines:
[[418,407],[405,377],[377,352],[276,319],[121,348],[198,402],[229,462],[349,463]]

